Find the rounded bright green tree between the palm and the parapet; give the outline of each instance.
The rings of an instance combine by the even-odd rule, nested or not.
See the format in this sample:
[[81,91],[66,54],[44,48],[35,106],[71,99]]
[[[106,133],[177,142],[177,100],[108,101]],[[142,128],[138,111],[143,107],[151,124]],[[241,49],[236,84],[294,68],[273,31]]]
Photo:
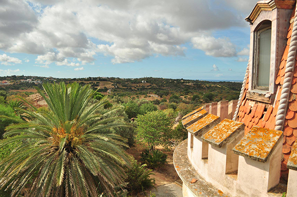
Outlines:
[[172,131],[172,121],[163,111],[151,111],[137,116],[137,139],[148,144],[151,150],[155,146],[166,145]]

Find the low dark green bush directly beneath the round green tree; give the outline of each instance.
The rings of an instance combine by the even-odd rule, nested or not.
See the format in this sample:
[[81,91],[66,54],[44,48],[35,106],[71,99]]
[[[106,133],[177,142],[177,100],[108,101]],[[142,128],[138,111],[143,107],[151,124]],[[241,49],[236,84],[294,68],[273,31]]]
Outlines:
[[148,168],[155,169],[167,163],[167,154],[160,150],[145,149],[141,153],[141,161],[148,165]]

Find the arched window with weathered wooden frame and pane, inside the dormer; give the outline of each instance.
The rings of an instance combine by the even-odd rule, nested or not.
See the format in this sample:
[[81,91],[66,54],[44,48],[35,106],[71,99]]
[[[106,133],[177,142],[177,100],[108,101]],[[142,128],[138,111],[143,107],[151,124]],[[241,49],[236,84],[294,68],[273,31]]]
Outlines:
[[271,21],[264,21],[255,32],[254,88],[269,90],[271,57]]

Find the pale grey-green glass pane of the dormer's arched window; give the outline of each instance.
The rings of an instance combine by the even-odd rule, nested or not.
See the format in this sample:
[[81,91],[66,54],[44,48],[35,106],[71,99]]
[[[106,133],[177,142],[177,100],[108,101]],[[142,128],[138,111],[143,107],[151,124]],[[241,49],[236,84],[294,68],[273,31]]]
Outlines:
[[259,35],[258,86],[268,87],[270,76],[271,29]]

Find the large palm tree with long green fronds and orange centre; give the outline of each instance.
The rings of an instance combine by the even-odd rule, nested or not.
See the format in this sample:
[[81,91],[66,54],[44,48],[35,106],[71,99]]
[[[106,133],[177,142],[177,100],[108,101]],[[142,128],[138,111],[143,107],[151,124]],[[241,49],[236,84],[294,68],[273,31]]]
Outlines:
[[123,183],[129,158],[123,139],[101,131],[119,127],[118,117],[104,109],[106,99],[91,103],[90,86],[44,84],[38,93],[48,110],[28,111],[31,122],[6,128],[0,148],[22,143],[0,162],[0,186],[11,196],[98,197],[99,188],[112,196]]

